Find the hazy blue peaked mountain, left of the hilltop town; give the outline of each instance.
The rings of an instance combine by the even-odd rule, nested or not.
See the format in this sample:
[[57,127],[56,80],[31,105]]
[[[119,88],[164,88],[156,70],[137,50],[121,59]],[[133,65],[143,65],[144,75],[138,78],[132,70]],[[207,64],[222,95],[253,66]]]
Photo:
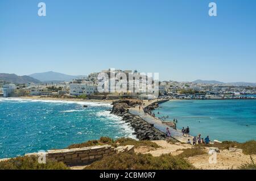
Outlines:
[[38,79],[39,81],[42,81],[42,82],[72,81],[75,78],[85,77],[85,75],[67,75],[67,74],[57,73],[54,71],[47,71],[44,73],[35,73],[29,76],[35,79]]

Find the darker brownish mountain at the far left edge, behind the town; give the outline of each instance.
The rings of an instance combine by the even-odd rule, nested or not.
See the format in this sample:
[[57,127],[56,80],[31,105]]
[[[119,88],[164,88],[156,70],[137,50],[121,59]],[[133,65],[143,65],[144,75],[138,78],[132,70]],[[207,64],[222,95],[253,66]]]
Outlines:
[[0,73],[0,81],[10,83],[40,83],[38,79],[29,77],[27,75],[19,76],[16,74]]

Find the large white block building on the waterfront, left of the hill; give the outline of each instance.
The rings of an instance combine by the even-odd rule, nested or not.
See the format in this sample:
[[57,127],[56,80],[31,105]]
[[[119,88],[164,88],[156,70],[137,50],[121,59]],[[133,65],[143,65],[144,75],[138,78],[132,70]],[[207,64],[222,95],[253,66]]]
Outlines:
[[95,86],[93,82],[85,82],[85,83],[71,83],[69,84],[69,94],[70,95],[93,95]]

